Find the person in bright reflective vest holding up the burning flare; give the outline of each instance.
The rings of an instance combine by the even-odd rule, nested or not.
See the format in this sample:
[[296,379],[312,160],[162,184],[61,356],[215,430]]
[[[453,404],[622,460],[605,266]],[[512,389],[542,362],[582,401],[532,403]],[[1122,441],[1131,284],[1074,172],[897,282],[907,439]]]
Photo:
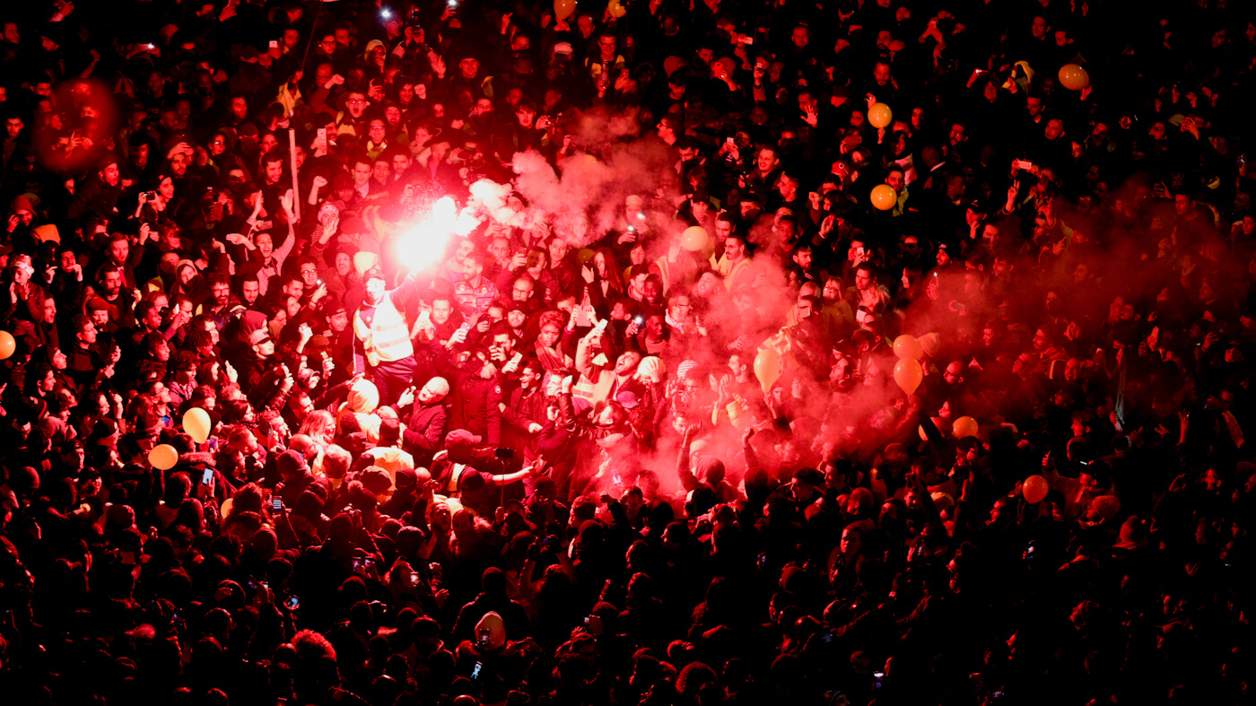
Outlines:
[[403,314],[418,295],[418,279],[411,273],[401,286],[389,290],[383,270],[371,268],[362,280],[365,291],[353,315],[353,369],[376,383],[379,405],[388,406],[409,387],[418,369]]

